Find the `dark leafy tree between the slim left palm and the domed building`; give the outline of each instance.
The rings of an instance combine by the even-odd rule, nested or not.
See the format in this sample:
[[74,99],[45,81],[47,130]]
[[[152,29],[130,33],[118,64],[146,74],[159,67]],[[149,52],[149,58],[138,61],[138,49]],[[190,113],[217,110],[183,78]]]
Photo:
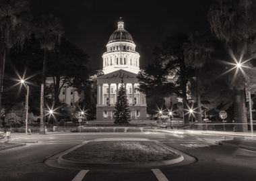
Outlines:
[[88,55],[71,42],[63,38],[56,49],[55,54],[51,54],[49,58],[46,74],[53,78],[54,105],[58,107],[61,88],[64,85],[75,88],[80,88],[82,84],[87,85],[90,70],[87,67]]

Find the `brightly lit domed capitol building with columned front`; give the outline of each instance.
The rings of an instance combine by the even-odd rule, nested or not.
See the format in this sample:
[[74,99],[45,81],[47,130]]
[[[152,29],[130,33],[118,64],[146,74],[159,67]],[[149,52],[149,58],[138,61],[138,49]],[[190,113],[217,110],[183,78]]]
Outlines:
[[139,53],[127,30],[125,23],[119,19],[117,30],[110,35],[106,52],[102,55],[102,71],[97,82],[97,120],[113,120],[118,88],[121,81],[125,84],[131,120],[146,119],[146,97],[137,91],[139,82]]

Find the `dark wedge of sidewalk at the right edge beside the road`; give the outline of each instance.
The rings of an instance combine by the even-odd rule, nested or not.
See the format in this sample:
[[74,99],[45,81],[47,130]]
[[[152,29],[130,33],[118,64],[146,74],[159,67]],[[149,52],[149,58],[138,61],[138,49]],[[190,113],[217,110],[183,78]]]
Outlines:
[[237,147],[242,149],[247,149],[249,151],[256,152],[256,141],[249,139],[232,139],[228,141],[218,142],[220,145],[227,145],[231,147]]

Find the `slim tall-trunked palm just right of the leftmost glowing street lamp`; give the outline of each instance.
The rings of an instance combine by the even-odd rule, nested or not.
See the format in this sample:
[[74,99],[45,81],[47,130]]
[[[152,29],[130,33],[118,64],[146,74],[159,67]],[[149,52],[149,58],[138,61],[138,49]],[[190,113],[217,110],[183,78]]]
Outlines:
[[44,132],[44,86],[46,62],[49,52],[55,50],[55,46],[60,44],[63,36],[63,26],[59,19],[53,15],[42,16],[42,21],[36,26],[36,38],[40,42],[40,47],[44,50],[44,60],[42,65],[42,82],[40,93],[40,133]]

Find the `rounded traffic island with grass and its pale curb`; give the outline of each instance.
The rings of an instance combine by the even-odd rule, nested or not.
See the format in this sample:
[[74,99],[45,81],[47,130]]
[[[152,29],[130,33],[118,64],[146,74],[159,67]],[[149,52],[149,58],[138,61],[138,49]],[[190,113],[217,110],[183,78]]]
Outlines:
[[106,139],[88,141],[59,156],[59,164],[78,167],[154,167],[177,164],[181,154],[158,141]]

